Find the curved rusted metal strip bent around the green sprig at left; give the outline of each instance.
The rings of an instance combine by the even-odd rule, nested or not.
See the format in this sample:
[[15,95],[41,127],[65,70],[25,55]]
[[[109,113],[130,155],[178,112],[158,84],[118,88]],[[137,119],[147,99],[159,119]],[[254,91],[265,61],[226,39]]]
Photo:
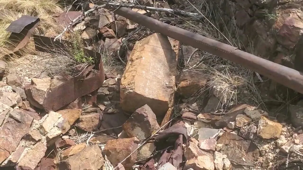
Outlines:
[[[53,40],[54,38],[34,35],[36,50],[54,54],[69,53],[67,47],[68,45],[72,45],[72,42],[54,42]],[[85,54],[96,59],[95,63],[98,67],[99,73],[90,78],[86,78],[85,76],[73,77],[49,90],[43,102],[43,106],[46,111],[57,111],[79,97],[98,90],[102,86],[105,80],[105,74],[101,54],[88,49],[85,49]]]

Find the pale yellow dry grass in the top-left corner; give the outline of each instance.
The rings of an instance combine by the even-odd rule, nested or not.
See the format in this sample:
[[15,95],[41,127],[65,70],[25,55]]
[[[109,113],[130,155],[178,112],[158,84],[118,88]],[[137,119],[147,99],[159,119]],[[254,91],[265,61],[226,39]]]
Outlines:
[[[22,15],[40,18],[35,34],[45,34],[49,29],[55,29],[52,14],[62,12],[57,2],[58,0],[0,0],[0,54],[9,53],[10,32],[5,29]],[[32,46],[28,46],[28,49],[32,49]],[[23,50],[23,53],[28,52],[30,51]]]

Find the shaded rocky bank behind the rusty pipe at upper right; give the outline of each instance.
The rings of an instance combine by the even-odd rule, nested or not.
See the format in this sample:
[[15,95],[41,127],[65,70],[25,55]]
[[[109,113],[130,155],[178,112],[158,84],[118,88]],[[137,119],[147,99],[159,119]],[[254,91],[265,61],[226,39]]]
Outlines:
[[[303,0],[206,1],[212,4],[220,29],[238,39],[241,50],[303,71]],[[268,99],[296,95],[273,81],[261,86],[261,95]]]

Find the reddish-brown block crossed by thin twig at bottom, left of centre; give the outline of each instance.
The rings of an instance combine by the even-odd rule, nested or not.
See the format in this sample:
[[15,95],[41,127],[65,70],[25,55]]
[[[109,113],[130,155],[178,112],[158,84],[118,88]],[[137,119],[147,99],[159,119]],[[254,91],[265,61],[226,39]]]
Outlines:
[[[137,149],[138,143],[139,140],[136,137],[110,140],[105,145],[104,153],[107,155],[108,160],[116,166]],[[136,157],[137,151],[122,162],[122,165],[125,168],[131,168],[135,163]]]

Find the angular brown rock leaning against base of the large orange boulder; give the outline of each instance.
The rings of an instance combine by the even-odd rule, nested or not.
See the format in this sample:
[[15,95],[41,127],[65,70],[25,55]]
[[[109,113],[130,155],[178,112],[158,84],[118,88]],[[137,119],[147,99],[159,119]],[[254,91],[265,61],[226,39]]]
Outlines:
[[145,104],[132,114],[122,128],[129,137],[137,137],[142,141],[160,129],[160,126],[155,113]]

